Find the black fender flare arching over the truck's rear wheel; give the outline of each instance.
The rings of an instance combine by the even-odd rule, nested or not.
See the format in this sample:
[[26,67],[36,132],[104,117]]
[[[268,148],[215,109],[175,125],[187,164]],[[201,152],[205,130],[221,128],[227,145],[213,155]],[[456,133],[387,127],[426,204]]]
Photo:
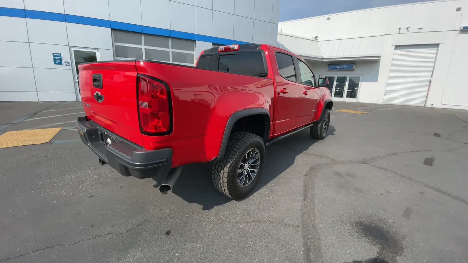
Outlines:
[[258,114],[264,115],[265,117],[265,132],[262,136],[262,139],[264,143],[268,141],[268,137],[270,136],[270,112],[267,109],[253,108],[236,111],[227,120],[226,128],[224,129],[223,139],[221,141],[221,147],[219,148],[218,160],[223,160],[224,158],[224,153],[226,152],[227,147],[227,141],[229,140],[229,136],[231,135],[231,131],[234,127],[234,124],[243,117]]

